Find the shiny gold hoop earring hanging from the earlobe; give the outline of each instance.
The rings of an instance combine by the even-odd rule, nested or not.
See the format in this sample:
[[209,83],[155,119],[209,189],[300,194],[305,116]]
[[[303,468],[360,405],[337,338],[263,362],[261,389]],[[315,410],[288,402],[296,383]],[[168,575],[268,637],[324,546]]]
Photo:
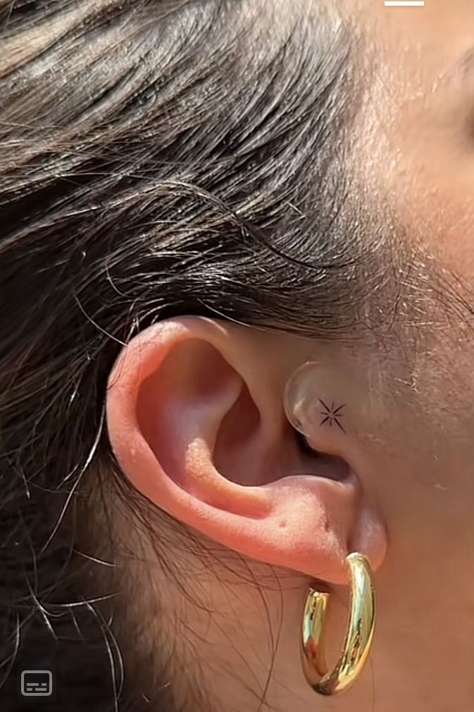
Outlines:
[[323,628],[329,594],[310,589],[303,614],[301,657],[306,680],[321,695],[348,690],[367,663],[375,630],[375,585],[370,562],[362,554],[346,559],[350,575],[350,616],[343,652],[328,672],[323,652]]

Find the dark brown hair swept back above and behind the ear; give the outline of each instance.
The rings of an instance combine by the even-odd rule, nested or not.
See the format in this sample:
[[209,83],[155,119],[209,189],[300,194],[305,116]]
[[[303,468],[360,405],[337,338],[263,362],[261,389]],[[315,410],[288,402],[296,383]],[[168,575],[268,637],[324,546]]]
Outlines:
[[124,486],[103,427],[121,345],[183,314],[356,328],[351,42],[296,5],[0,0],[2,712],[38,660],[61,711],[139,709],[80,518],[86,486]]

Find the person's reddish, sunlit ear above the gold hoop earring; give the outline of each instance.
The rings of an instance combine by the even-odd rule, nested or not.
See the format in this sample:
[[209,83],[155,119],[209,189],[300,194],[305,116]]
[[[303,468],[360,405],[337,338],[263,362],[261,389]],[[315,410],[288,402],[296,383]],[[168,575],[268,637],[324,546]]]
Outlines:
[[198,317],[153,325],[109,377],[109,439],[134,487],[185,525],[344,583],[349,550],[379,564],[384,529],[340,456],[321,475],[321,459],[298,446],[282,396],[300,358],[287,335]]

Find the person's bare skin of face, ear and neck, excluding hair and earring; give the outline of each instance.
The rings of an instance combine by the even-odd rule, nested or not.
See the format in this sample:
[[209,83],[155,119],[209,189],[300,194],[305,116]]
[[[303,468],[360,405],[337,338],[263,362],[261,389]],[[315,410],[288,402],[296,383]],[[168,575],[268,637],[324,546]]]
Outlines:
[[[226,712],[257,711],[263,697],[278,712],[465,712],[474,703],[474,63],[468,70],[462,58],[474,45],[474,6],[340,6],[378,60],[357,180],[375,199],[389,197],[452,300],[468,298],[449,319],[426,291],[428,326],[409,358],[194,317],[124,347],[107,394],[119,464],[215,555],[200,560],[170,544],[189,573],[187,597],[140,539],[149,564],[136,564],[136,575],[146,585],[130,605],[146,621],[140,646],[173,640],[178,701],[195,680],[200,705]],[[308,394],[346,404],[345,433],[308,422],[314,458],[296,446],[282,404],[307,360],[318,362]],[[126,537],[139,540],[129,525]],[[375,646],[357,684],[323,698],[301,671],[303,602],[310,583],[332,594],[333,661],[345,632],[344,560],[355,550],[375,570]],[[166,635],[147,613],[158,600],[161,622],[172,622]],[[153,682],[144,686],[153,699]]]

